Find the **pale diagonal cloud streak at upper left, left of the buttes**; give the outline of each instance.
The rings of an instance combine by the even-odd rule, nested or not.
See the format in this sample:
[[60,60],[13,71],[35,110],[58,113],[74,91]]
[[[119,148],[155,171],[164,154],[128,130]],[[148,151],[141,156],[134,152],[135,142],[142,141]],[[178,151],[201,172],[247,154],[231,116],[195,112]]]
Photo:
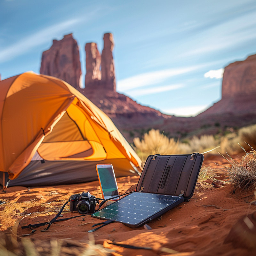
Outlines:
[[49,38],[54,38],[59,33],[67,31],[71,26],[79,23],[81,19],[71,19],[58,24],[52,25],[47,28],[27,36],[15,44],[12,44],[4,49],[0,50],[0,63],[7,60],[11,60],[16,56],[19,56],[25,52],[28,52],[32,48],[42,45],[49,41]]

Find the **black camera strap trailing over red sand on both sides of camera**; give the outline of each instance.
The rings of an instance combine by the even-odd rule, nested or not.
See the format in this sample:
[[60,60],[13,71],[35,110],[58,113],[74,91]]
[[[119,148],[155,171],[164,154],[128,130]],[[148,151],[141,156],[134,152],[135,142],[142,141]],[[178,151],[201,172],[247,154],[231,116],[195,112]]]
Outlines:
[[[128,194],[131,194],[132,192],[134,192],[134,191],[124,193],[123,195],[120,195],[120,196],[125,196],[125,195],[128,195]],[[96,199],[98,199],[98,200],[102,200],[102,202],[99,204],[99,208],[98,208],[96,211],[94,211],[94,212],[98,212],[98,211],[100,210],[100,208],[102,207],[102,205],[105,204],[107,201],[113,200],[113,199],[115,199],[115,198],[117,198],[117,197],[120,197],[120,196],[114,196],[114,197],[112,197],[112,198],[105,199],[105,200],[104,200],[104,199],[101,199],[101,198],[96,198]],[[57,220],[57,218],[60,216],[61,212],[64,210],[65,206],[69,203],[69,201],[70,201],[70,198],[68,199],[68,201],[67,201],[65,204],[63,204],[63,206],[61,207],[60,211],[56,214],[56,216],[55,216],[52,220],[49,220],[49,221],[47,221],[47,222],[37,223],[37,224],[28,224],[27,226],[22,226],[21,228],[22,228],[22,229],[24,229],[24,228],[30,228],[30,229],[32,229],[32,232],[31,232],[30,234],[33,234],[33,233],[36,231],[36,229],[33,229],[33,228],[41,227],[41,226],[44,226],[44,225],[47,225],[47,224],[48,224],[48,226],[47,226],[46,228],[44,228],[43,230],[41,230],[41,232],[44,232],[44,231],[48,230],[48,229],[51,227],[52,223],[54,223],[54,222],[59,222],[59,221],[62,221],[62,220],[70,220],[70,219],[74,219],[74,218],[77,218],[77,217],[82,217],[82,216],[87,216],[87,215],[91,215],[91,214],[92,214],[92,213],[79,214],[79,215],[77,215],[77,216],[73,216],[73,217],[68,217],[68,218],[64,218],[64,219],[59,219],[59,220]],[[93,212],[93,213],[94,213],[94,212]],[[101,224],[101,223],[100,223],[100,224]],[[108,223],[106,223],[105,225],[107,225],[107,224],[108,224]],[[105,226],[105,225],[103,225],[103,226]],[[99,228],[101,228],[101,227],[103,227],[103,226],[100,226],[100,227],[98,227],[97,229],[99,229]],[[30,235],[30,234],[29,234],[29,235]]]

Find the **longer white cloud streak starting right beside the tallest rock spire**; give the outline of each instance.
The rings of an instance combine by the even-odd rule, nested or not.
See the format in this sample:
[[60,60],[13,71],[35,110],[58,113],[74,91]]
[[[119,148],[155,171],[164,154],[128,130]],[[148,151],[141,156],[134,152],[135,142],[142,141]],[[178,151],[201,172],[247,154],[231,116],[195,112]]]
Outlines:
[[138,88],[142,86],[148,86],[152,84],[159,84],[169,77],[185,74],[194,71],[199,66],[191,66],[186,68],[169,68],[159,71],[152,71],[147,73],[142,73],[140,75],[131,76],[117,82],[118,91],[126,91],[133,88]]

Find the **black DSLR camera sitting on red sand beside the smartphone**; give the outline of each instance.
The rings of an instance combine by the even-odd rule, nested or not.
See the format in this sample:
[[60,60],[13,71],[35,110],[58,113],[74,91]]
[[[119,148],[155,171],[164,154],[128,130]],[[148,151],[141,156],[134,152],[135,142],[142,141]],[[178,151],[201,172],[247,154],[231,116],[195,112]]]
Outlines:
[[70,196],[69,211],[79,212],[81,214],[95,212],[96,202],[99,203],[95,196],[92,196],[89,191],[81,194]]

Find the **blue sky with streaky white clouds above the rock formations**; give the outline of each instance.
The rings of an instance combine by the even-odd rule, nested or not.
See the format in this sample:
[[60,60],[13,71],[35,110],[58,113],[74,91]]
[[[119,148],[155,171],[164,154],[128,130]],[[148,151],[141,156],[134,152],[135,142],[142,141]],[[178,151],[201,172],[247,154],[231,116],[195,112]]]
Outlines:
[[117,91],[176,116],[220,100],[228,63],[256,53],[256,1],[0,0],[0,74],[33,70],[52,39],[115,39]]

